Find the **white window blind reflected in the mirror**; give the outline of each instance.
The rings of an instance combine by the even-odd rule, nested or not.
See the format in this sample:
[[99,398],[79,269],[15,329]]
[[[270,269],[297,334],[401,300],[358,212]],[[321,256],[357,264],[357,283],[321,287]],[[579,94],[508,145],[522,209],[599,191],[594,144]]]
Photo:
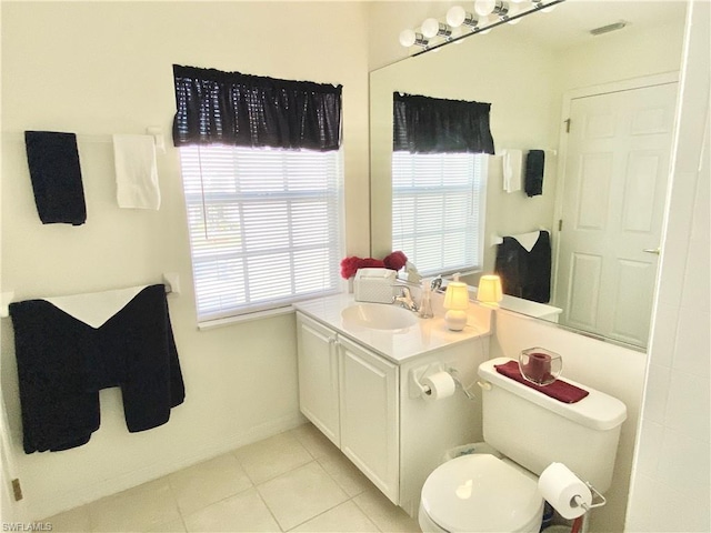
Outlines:
[[480,270],[484,154],[392,154],[392,249],[424,275]]

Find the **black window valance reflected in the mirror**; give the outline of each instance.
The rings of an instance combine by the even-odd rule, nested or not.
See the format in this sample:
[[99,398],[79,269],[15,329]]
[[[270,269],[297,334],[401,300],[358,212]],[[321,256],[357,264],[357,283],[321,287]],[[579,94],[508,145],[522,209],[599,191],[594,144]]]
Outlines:
[[490,103],[393,93],[393,150],[493,154]]

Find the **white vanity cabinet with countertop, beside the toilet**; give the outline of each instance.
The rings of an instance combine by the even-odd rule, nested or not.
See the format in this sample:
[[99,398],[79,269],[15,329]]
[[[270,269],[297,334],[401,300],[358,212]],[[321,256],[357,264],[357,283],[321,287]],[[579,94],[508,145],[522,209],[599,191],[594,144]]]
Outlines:
[[[352,323],[344,310],[353,305],[352,294],[294,304],[299,405],[385,496],[417,516],[424,480],[445,452],[482,440],[475,382],[489,355],[491,310],[471,305],[463,331],[449,331],[442,318],[389,331]],[[444,398],[424,395],[419,380],[442,371],[462,385]]]

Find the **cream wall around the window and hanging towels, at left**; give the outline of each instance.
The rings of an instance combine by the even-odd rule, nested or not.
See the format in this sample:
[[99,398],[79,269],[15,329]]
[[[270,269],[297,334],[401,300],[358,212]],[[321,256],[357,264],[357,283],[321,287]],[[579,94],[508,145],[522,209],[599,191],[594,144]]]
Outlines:
[[[168,424],[129,434],[117,389],[89,444],[26,455],[12,330],[2,321],[2,394],[28,520],[51,515],[301,422],[293,318],[198,332],[178,152],[173,63],[343,84],[348,252],[367,254],[368,67],[353,2],[2,2],[2,290],[17,299],[159,282],[187,388]],[[268,22],[264,22],[268,21]],[[111,133],[160,125],[162,207],[119,210]],[[42,225],[21,133],[72,131],[88,221]]]

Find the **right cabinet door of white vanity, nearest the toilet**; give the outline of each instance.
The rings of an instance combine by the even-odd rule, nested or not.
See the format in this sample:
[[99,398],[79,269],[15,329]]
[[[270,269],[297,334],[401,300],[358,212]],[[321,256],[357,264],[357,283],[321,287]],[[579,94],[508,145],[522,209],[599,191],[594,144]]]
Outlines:
[[398,504],[398,368],[347,339],[339,346],[341,451]]

